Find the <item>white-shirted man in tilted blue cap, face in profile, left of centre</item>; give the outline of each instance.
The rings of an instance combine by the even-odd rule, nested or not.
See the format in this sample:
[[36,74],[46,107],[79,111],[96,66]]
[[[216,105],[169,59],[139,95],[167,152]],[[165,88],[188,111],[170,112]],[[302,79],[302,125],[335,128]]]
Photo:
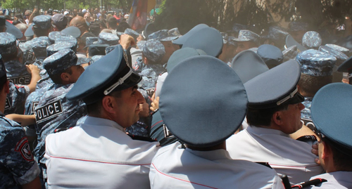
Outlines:
[[158,143],[134,141],[125,133],[139,119],[140,80],[120,45],[87,67],[66,96],[87,104],[87,118],[46,137],[51,187],[150,188],[149,166]]

